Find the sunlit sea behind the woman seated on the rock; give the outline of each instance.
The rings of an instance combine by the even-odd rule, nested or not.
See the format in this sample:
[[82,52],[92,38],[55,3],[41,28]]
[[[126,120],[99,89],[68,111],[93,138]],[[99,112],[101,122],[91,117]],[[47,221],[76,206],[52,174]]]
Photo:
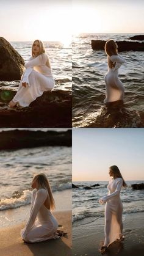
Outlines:
[[[31,57],[32,42],[10,42],[13,48],[20,53],[24,62]],[[44,42],[46,53],[51,62],[52,74],[56,85],[54,89],[71,90],[72,65],[71,45],[65,46],[60,42]],[[17,88],[20,81],[0,81],[1,86]]]

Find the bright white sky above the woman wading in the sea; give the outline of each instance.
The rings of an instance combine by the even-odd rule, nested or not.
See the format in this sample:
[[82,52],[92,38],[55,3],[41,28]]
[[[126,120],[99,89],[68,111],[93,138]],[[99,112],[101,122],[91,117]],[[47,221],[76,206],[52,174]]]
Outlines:
[[143,0],[73,0],[73,34],[144,33]]

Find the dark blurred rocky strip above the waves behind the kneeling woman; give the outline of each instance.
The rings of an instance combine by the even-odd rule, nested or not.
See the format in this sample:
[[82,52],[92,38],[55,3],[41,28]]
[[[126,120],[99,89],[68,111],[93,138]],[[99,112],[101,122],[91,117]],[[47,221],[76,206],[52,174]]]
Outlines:
[[0,150],[41,146],[71,146],[71,130],[30,131],[11,130],[0,132]]

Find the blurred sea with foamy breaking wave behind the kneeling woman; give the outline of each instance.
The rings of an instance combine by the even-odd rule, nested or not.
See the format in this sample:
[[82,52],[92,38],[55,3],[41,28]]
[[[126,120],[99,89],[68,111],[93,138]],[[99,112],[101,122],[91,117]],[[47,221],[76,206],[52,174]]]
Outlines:
[[48,177],[52,192],[71,189],[71,147],[1,150],[0,217],[4,210],[31,203],[31,181],[40,173]]

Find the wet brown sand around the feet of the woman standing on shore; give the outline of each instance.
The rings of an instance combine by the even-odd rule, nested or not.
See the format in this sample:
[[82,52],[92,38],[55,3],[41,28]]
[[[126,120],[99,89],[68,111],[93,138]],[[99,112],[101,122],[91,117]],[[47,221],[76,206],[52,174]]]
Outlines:
[[[91,222],[93,221],[93,222]],[[88,223],[90,222],[90,223]],[[124,216],[123,242],[115,242],[107,249],[106,256],[143,255],[144,224],[143,213],[131,213]],[[104,241],[104,217],[86,218],[73,225],[73,256],[97,256]]]

